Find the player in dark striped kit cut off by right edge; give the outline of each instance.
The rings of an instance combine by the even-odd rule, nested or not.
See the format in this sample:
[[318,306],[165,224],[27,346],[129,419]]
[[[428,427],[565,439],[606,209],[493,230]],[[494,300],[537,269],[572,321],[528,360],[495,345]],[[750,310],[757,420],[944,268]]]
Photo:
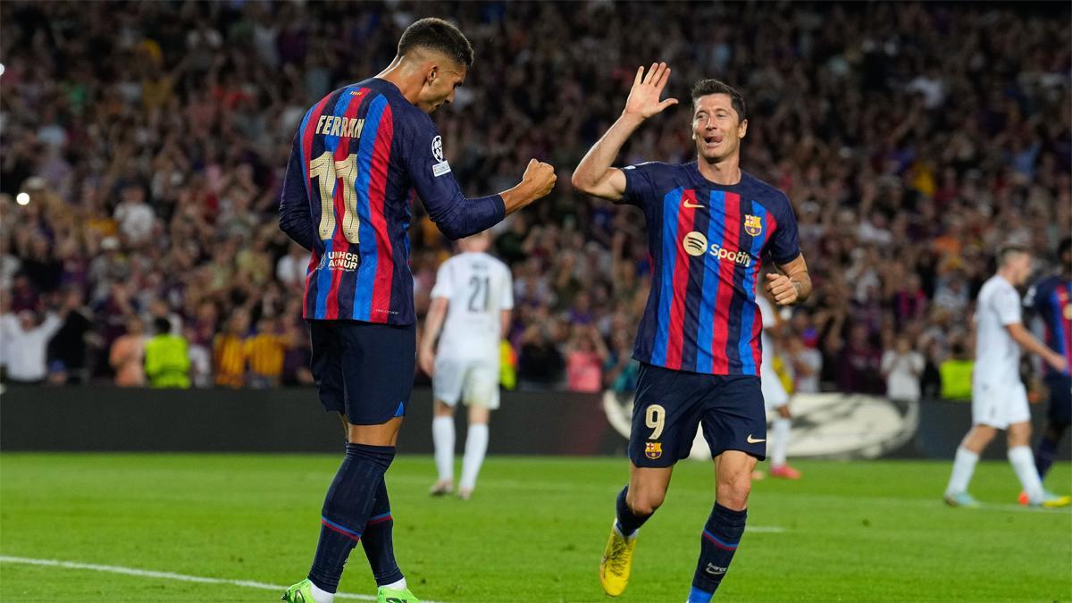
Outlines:
[[[1061,241],[1057,250],[1060,270],[1057,275],[1042,279],[1024,298],[1024,307],[1033,310],[1045,328],[1045,341],[1052,349],[1064,356],[1064,370],[1046,365],[1043,377],[1049,391],[1049,409],[1046,427],[1034,450],[1034,467],[1039,477],[1046,479],[1046,472],[1057,458],[1057,446],[1072,424],[1072,237]],[[1027,504],[1027,492],[1021,495],[1021,503]]]

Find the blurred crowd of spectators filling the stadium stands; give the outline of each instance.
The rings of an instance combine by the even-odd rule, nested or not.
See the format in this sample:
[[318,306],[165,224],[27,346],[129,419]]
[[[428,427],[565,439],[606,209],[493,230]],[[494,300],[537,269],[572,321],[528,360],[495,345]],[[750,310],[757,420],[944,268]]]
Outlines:
[[[744,92],[742,165],[789,194],[815,282],[775,337],[798,391],[955,394],[995,247],[1017,239],[1048,261],[1070,224],[1068,5],[123,6],[0,4],[12,381],[310,383],[308,255],[277,223],[291,137],[311,103],[377,73],[430,14],[477,50],[434,116],[466,191],[507,188],[530,157],[560,170],[557,190],[495,231],[515,276],[505,355],[519,387],[635,383],[642,219],[570,190],[569,173],[638,64],[668,61],[685,102],[642,127],[628,163],[691,160],[696,79]],[[450,245],[419,204],[412,239],[423,315]]]

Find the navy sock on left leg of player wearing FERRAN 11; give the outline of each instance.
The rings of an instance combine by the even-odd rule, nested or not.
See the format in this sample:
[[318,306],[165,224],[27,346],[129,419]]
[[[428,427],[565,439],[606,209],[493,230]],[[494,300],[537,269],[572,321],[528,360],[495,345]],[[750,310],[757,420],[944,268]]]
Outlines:
[[386,492],[384,473],[393,458],[394,446],[346,444],[346,457],[324,499],[321,540],[309,570],[309,579],[317,588],[338,590],[346,558],[366,531],[376,495],[382,489]]

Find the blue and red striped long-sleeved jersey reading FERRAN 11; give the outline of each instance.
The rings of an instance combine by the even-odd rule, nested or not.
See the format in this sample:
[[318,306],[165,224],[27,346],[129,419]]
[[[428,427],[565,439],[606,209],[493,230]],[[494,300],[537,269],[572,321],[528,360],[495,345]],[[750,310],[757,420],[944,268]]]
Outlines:
[[393,84],[352,84],[306,113],[280,202],[280,227],[312,254],[306,319],[416,322],[408,263],[414,191],[449,238],[505,216],[500,195],[465,198],[435,124]]

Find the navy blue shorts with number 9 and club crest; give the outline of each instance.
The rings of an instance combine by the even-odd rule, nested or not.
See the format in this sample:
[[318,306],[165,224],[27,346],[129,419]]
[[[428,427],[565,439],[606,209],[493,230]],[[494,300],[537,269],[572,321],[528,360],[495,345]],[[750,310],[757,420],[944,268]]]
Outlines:
[[637,467],[670,467],[688,456],[700,425],[712,457],[742,451],[759,460],[766,458],[766,410],[759,378],[641,363],[629,460]]

